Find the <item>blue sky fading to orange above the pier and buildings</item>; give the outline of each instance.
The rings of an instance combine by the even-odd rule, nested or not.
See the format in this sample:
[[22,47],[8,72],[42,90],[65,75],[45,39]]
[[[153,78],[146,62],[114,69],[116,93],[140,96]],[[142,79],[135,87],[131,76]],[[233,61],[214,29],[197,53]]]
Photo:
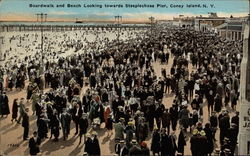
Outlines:
[[[53,4],[54,8],[29,7],[33,5]],[[56,8],[57,4],[64,4],[63,8]],[[80,8],[66,7],[67,4],[80,4]],[[154,8],[99,8],[83,7],[89,4],[104,6],[105,4],[157,4],[166,7]],[[203,4],[208,8],[187,8],[187,4]],[[184,5],[183,8],[170,5]],[[213,5],[213,7],[211,7]],[[219,17],[242,17],[249,13],[249,0],[0,0],[0,21],[36,21],[36,13],[47,13],[48,21],[86,20],[114,20],[114,16],[121,15],[123,21],[147,21],[153,16],[158,20],[171,20],[180,14],[185,16],[207,16],[208,12],[216,12]]]

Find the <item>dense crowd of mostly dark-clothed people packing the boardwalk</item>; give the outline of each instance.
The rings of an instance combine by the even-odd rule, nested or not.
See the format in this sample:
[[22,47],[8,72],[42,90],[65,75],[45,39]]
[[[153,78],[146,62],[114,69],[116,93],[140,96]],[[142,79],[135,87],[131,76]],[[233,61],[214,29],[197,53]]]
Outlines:
[[[105,124],[108,135],[115,132],[114,148],[119,156],[151,152],[184,155],[189,143],[193,156],[211,155],[216,152],[218,130],[219,152],[234,155],[241,57],[240,41],[194,30],[156,28],[154,34],[148,32],[133,42],[119,42],[45,64],[34,59],[8,70],[1,68],[0,113],[10,114],[6,91],[13,88],[11,85],[26,89],[27,96],[13,102],[12,122],[22,119],[26,140],[31,104],[37,116],[37,131],[29,140],[32,155],[39,152],[48,134],[59,141],[62,133],[67,140],[72,122],[79,144],[84,137],[88,155],[101,155],[97,137],[101,124]],[[168,71],[164,66],[170,59],[173,63]],[[163,65],[160,75],[153,67],[156,62]],[[6,74],[15,81],[4,80]],[[164,102],[166,96],[174,96],[173,101],[167,101],[171,107]],[[208,123],[203,122],[205,108]],[[94,131],[89,134],[89,129]]]

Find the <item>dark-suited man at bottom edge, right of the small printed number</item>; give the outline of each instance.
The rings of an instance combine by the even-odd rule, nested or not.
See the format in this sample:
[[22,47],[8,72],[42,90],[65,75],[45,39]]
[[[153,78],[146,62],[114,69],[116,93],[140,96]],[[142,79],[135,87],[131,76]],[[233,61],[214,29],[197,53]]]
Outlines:
[[36,155],[40,152],[39,145],[41,144],[41,139],[37,135],[37,132],[33,132],[33,137],[29,140],[30,155]]

